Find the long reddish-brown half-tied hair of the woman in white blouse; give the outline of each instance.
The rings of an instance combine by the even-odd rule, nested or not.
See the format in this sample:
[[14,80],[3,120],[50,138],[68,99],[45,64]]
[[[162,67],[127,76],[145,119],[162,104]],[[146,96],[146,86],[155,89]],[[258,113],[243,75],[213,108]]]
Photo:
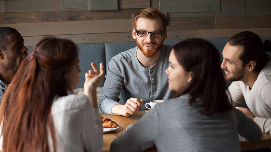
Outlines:
[[66,39],[48,37],[33,46],[2,100],[5,152],[48,152],[50,134],[56,151],[51,105],[56,95],[71,90],[65,74],[77,55],[76,45]]

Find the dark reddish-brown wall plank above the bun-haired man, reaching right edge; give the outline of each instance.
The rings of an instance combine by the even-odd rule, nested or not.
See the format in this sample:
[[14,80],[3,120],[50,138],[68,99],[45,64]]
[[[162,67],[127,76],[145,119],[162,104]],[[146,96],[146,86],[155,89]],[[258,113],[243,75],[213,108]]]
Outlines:
[[269,28],[270,16],[219,16],[216,28]]

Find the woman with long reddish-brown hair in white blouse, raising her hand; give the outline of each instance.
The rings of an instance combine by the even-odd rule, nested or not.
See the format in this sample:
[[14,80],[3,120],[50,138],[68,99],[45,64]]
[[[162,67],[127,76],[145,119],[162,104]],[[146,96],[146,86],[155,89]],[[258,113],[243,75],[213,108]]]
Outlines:
[[100,73],[92,63],[93,71],[85,74],[85,96],[72,94],[78,63],[70,40],[49,37],[33,46],[2,99],[2,151],[101,151],[96,88],[104,78],[103,64]]

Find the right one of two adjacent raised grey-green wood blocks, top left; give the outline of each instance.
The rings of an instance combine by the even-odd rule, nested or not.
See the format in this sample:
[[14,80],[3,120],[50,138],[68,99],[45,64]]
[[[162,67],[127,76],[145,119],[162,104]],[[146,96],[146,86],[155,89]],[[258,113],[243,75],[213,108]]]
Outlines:
[[89,10],[117,10],[117,0],[89,0]]

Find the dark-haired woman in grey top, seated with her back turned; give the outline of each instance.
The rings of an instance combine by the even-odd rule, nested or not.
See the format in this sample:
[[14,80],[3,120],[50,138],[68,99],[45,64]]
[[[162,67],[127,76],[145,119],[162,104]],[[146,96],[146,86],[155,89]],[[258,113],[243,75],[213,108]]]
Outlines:
[[238,133],[261,140],[260,127],[232,107],[220,69],[220,55],[206,40],[173,46],[166,70],[173,99],[157,104],[111,144],[111,151],[240,151]]

